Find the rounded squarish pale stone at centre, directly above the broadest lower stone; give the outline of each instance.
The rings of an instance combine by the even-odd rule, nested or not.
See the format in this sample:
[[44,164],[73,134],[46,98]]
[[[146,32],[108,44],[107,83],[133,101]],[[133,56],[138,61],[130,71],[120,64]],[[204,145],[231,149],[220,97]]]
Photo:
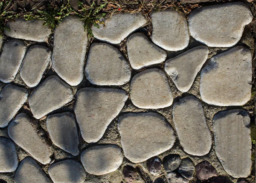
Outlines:
[[131,101],[136,107],[158,109],[172,105],[173,96],[166,74],[161,69],[146,69],[131,80]]

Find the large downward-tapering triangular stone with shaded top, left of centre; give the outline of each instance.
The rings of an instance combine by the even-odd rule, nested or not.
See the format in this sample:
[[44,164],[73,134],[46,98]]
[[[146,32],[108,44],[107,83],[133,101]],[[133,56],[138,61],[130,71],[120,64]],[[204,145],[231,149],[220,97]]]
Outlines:
[[102,138],[128,99],[124,90],[85,87],[77,92],[74,107],[81,135],[88,143]]

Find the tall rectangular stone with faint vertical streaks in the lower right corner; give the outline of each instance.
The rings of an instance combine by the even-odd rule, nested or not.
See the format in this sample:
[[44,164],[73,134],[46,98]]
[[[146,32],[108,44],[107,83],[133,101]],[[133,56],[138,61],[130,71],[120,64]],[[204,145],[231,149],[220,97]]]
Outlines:
[[221,111],[213,117],[215,152],[224,170],[232,177],[250,175],[250,115],[245,110]]

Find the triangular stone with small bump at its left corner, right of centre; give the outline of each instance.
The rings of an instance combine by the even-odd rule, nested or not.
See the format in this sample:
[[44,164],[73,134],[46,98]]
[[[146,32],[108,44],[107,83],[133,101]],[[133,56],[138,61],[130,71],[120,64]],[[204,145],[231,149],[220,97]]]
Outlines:
[[164,70],[178,90],[187,92],[191,88],[196,75],[207,60],[208,53],[206,46],[197,46],[165,62]]

